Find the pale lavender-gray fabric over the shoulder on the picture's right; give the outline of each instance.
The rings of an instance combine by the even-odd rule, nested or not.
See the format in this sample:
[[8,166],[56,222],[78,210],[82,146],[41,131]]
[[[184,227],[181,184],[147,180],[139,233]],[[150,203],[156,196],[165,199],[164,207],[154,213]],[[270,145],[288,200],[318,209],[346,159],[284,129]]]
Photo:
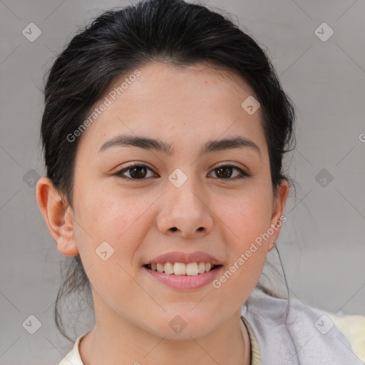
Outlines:
[[255,288],[242,306],[242,316],[255,332],[262,365],[363,365],[331,319],[299,299],[290,299],[285,324],[287,304],[287,299]]

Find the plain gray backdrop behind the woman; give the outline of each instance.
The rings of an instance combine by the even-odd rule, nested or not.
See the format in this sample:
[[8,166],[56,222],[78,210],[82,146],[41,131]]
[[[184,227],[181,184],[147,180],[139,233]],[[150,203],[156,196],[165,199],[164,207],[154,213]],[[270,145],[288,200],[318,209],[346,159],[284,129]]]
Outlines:
[[[235,14],[267,49],[297,108],[297,149],[287,159],[297,196],[289,196],[278,243],[291,296],[330,312],[365,315],[365,1],[205,3]],[[1,365],[58,364],[72,347],[52,315],[62,255],[32,186],[43,175],[39,88],[78,28],[125,4],[0,0]],[[31,22],[42,32],[34,42],[22,34]],[[327,41],[314,33],[323,22],[334,30]],[[41,322],[35,334],[22,326],[31,314]],[[73,322],[78,327],[68,334],[91,329],[87,320]]]

